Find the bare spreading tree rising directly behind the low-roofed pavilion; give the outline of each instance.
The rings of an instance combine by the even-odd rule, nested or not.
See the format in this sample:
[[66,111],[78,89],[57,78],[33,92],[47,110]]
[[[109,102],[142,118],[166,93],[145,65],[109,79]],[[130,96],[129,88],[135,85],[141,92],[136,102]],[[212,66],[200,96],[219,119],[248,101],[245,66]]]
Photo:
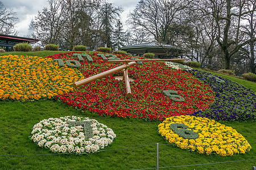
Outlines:
[[129,15],[129,22],[134,29],[142,29],[154,39],[170,44],[168,32],[172,24],[183,22],[183,12],[191,1],[183,0],[141,0]]

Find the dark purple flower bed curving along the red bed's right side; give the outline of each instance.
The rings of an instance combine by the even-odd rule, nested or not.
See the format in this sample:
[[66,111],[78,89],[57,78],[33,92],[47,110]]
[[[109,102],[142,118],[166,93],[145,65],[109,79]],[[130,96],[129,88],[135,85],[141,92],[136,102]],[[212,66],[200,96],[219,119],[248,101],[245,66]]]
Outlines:
[[208,84],[216,92],[215,101],[208,109],[190,115],[225,121],[255,120],[256,95],[253,91],[205,71],[187,72]]

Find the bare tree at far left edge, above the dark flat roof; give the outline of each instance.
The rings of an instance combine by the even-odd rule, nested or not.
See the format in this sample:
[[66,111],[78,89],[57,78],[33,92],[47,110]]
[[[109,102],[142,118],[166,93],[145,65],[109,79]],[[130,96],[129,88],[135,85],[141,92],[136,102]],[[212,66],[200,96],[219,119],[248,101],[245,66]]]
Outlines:
[[14,25],[19,19],[16,17],[16,12],[7,10],[0,1],[0,33],[6,35],[17,35]]

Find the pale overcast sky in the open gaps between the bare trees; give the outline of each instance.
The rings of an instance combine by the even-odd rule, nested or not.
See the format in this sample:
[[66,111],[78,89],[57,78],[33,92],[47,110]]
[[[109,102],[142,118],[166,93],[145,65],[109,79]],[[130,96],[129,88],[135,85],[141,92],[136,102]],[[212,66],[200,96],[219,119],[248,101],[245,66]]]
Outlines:
[[[42,12],[43,7],[47,7],[47,0],[0,0],[6,8],[13,9],[17,12],[19,23],[16,24],[15,29],[18,31],[18,36],[30,35],[31,31],[28,30],[28,25],[31,20],[38,15],[38,11]],[[108,2],[114,3],[123,8],[121,19],[123,25],[130,11],[132,11],[138,4],[139,0],[109,0]]]

